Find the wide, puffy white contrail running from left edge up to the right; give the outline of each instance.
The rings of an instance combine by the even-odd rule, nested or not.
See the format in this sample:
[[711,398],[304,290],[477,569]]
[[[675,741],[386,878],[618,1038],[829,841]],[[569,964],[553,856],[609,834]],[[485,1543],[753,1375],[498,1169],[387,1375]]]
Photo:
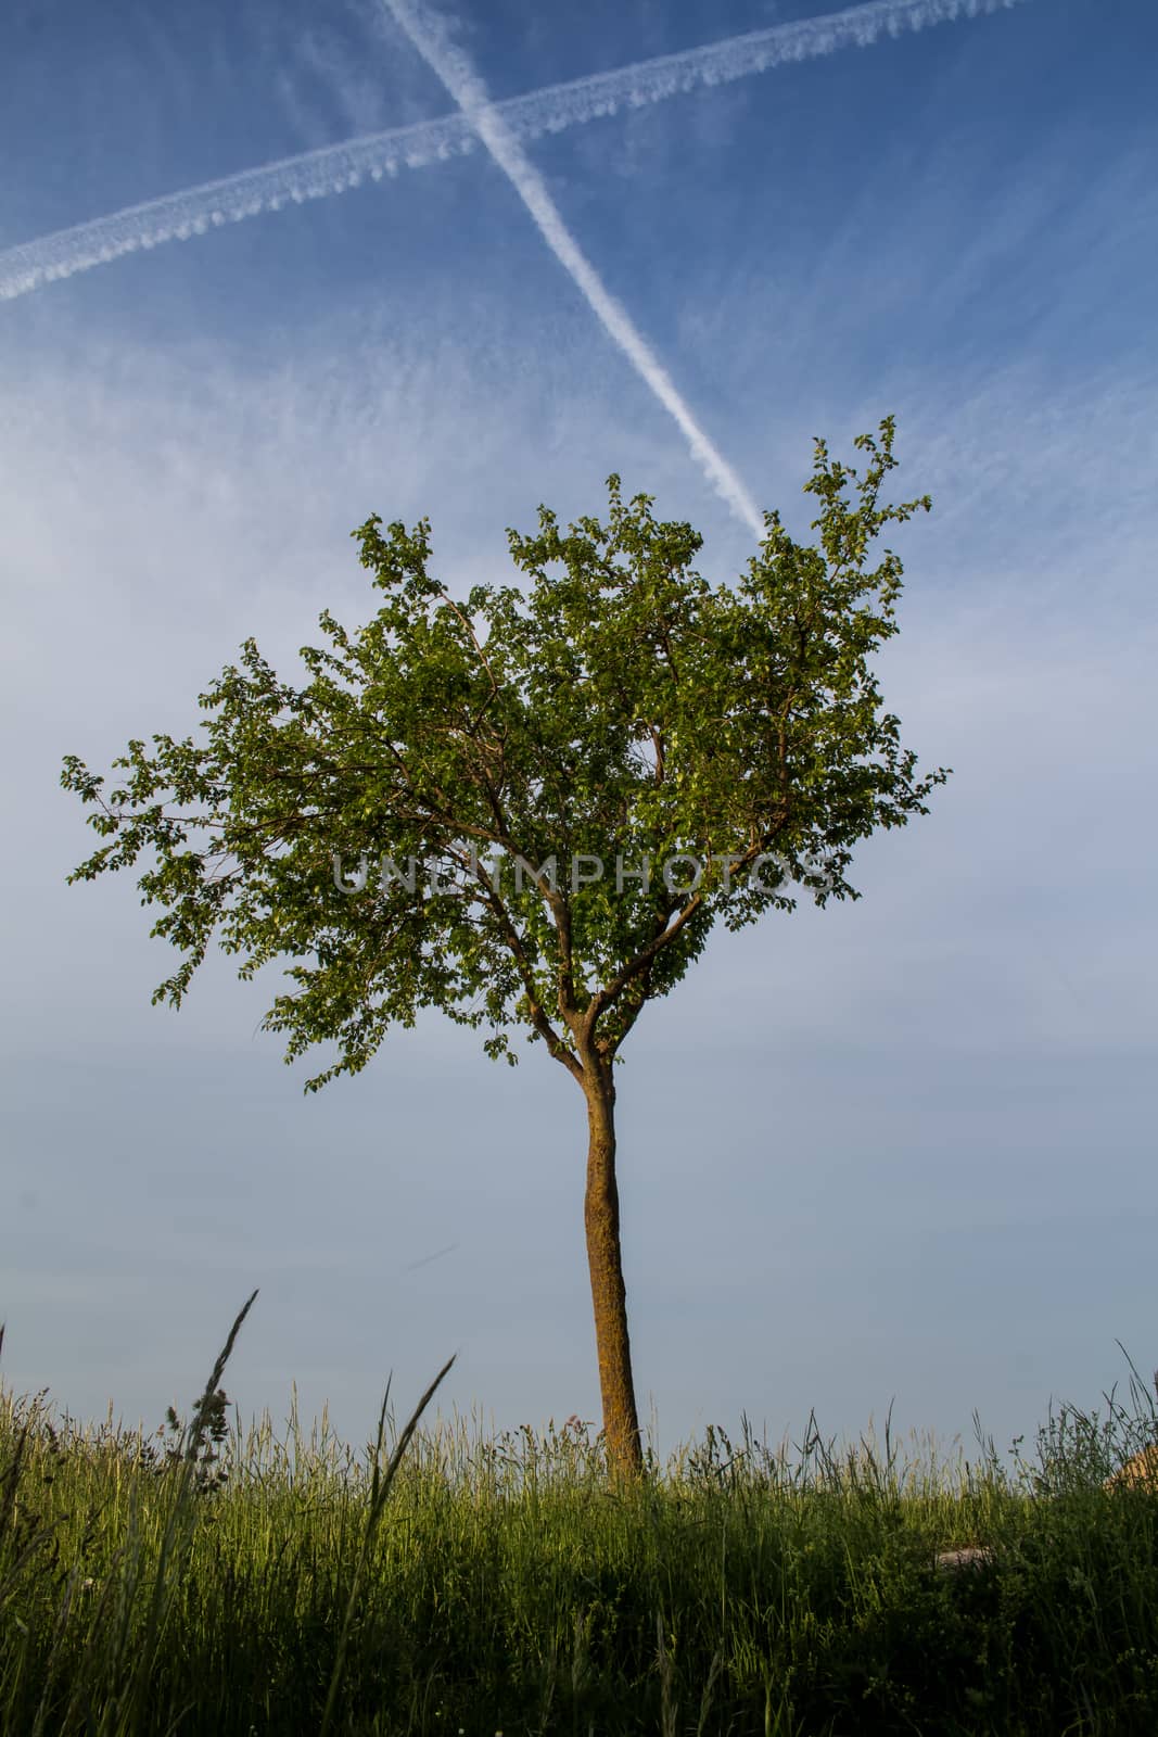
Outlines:
[[[845,7],[825,17],[773,24],[682,54],[635,61],[615,73],[547,85],[524,97],[495,102],[493,108],[516,139],[538,139],[545,132],[566,132],[568,127],[602,115],[618,115],[623,108],[663,102],[701,85],[731,83],[773,66],[814,61],[839,49],[870,49],[884,35],[899,36],[1023,3],[1026,0],[868,0],[868,5]],[[212,228],[257,217],[259,212],[325,200],[366,179],[380,181],[403,168],[446,162],[470,151],[474,142],[474,129],[465,115],[446,115],[443,120],[392,127],[344,144],[328,144],[319,151],[285,156],[262,168],[226,175],[224,181],[205,181],[184,193],[130,205],[109,217],[57,229],[0,252],[0,301],[28,295],[45,283],[90,271],[123,254],[135,254],[137,248],[186,241]]]

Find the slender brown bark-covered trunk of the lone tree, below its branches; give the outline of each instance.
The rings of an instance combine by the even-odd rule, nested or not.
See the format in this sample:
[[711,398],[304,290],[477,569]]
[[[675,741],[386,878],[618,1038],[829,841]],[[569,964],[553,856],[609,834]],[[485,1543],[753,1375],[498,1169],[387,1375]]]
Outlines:
[[595,1310],[595,1353],[602,1395],[608,1466],[616,1476],[639,1476],[644,1457],[632,1383],[632,1346],[627,1336],[627,1289],[620,1249],[620,1192],[615,1183],[615,1082],[611,1068],[587,1061],[587,1265]]

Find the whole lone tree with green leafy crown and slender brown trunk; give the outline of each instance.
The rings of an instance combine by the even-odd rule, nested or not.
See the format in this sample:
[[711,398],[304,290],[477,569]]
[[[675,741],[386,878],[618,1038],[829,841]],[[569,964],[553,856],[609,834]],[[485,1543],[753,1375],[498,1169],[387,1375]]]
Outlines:
[[[201,695],[205,738],[153,736],[115,761],[102,796],[76,756],[61,782],[95,802],[104,844],[71,875],[92,881],[151,849],[151,933],[184,952],[153,1001],[179,1007],[217,933],[252,976],[286,959],[290,994],[264,1018],[358,1073],[391,1025],[441,1007],[507,1032],[564,1067],[587,1105],[583,1221],[608,1461],[642,1471],[615,1174],[615,1061],[649,1001],[667,995],[717,917],[729,929],[858,898],[852,846],[924,815],[948,776],[915,775],[899,721],[882,712],[870,653],[898,632],[901,563],[866,571],[889,521],[878,507],[894,420],[863,478],[816,441],[806,492],[819,547],[767,512],[734,589],[689,561],[703,538],[620,499],[569,535],[540,507],[538,537],[509,532],[530,587],[476,585],[465,603],[431,578],[431,526],[352,535],[380,596],[349,634],[325,611],[330,650],[304,648],[309,683],[278,679],[250,639]],[[849,505],[845,485],[859,502]],[[549,570],[550,568],[550,570]]]

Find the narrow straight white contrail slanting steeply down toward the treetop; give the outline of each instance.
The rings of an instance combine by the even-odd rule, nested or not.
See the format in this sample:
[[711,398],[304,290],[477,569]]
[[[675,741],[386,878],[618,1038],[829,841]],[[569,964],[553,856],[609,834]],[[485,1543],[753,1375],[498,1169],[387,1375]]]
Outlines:
[[415,0],[384,0],[384,5],[389,9],[394,23],[406,31],[431,71],[443,80],[446,90],[460,106],[479,139],[535,219],[543,241],[576,288],[587,297],[592,313],[602,325],[608,337],[620,346],[644,386],[651,387],[663,408],[681,426],[693,459],[700,464],[715,492],[727,502],[733,512],[743,519],[753,537],[757,540],[762,538],[764,518],[755,502],[733,467],[703,433],[672,384],[667,368],[632,323],[627,309],[620,306],[615,295],[611,295],[611,292],[604,287],[602,278],[563,221],[559,207],[547,191],[543,177],[535,168],[502,115],[497,115],[491,108],[486,85],[470,68],[465,54],[446,40],[443,21],[432,17],[422,5],[422,0],[417,0],[417,3]]

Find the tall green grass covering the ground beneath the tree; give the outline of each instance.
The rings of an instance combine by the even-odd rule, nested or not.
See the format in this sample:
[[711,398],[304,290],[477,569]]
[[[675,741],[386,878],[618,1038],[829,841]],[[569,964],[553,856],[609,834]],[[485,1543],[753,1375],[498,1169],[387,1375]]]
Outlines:
[[1134,1365],[1132,1414],[1050,1412],[1012,1471],[979,1426],[950,1471],[745,1419],[625,1490],[575,1426],[420,1435],[453,1358],[389,1456],[389,1386],[365,1457],[229,1430],[252,1303],[156,1436],[0,1386],[5,1734],[1158,1730],[1158,1487],[1104,1487],[1158,1438]]

